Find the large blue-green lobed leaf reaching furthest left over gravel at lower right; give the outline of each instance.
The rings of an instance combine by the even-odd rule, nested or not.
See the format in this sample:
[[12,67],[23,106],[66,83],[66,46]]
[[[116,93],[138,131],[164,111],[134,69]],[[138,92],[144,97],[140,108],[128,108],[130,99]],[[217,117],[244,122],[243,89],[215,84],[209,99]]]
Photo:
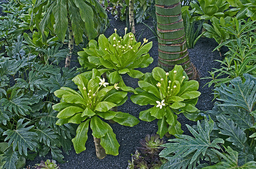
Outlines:
[[[210,117],[209,117],[210,118]],[[190,163],[195,162],[198,159],[199,155],[205,155],[206,150],[208,148],[216,148],[219,149],[218,143],[224,143],[223,139],[214,139],[210,140],[210,134],[212,129],[214,128],[214,121],[210,118],[208,121],[206,117],[204,117],[205,125],[204,130],[200,124],[197,122],[198,132],[195,131],[189,125],[186,125],[191,134],[194,137],[187,135],[176,135],[178,139],[170,139],[172,143],[167,143],[161,146],[166,147],[159,154],[160,157],[167,157],[169,154],[175,153],[173,157],[169,158],[169,160],[173,159],[182,159],[187,155],[193,155]]]

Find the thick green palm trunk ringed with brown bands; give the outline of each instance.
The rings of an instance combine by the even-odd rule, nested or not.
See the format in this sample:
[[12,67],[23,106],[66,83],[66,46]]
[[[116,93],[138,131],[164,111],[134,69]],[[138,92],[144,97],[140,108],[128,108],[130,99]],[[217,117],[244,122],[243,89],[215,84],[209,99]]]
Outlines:
[[182,65],[187,75],[193,76],[193,66],[186,47],[180,0],[156,0],[158,36],[158,65],[165,71]]

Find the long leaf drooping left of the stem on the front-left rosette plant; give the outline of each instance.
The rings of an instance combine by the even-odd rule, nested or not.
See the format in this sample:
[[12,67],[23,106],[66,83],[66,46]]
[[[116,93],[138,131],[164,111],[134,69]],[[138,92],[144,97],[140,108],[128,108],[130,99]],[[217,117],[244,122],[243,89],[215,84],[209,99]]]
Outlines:
[[78,128],[76,129],[76,136],[74,139],[72,139],[72,143],[75,148],[75,152],[77,154],[83,152],[86,150],[86,141],[88,139],[87,132],[89,127],[89,121],[91,119],[88,119],[86,122],[83,122],[79,124]]

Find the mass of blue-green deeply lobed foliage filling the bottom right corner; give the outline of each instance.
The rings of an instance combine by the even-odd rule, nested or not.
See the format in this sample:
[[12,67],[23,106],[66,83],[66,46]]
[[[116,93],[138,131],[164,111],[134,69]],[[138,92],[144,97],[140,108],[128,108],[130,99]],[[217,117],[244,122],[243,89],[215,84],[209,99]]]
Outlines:
[[[216,103],[210,115],[197,127],[186,125],[194,137],[176,135],[164,144],[160,157],[168,162],[162,168],[255,168],[256,78],[244,74],[229,86],[216,88],[222,103]],[[204,128],[204,129],[203,129]],[[200,159],[209,163],[200,164]],[[214,164],[216,163],[216,164]],[[212,166],[214,164],[214,166]]]

